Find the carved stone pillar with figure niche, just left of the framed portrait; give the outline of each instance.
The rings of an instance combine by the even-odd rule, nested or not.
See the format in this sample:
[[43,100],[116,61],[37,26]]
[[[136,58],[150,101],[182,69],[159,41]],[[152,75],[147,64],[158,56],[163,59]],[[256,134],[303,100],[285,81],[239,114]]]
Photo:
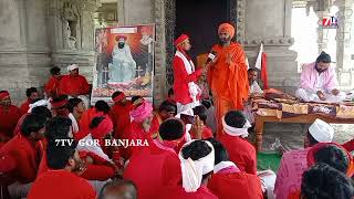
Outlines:
[[69,64],[77,63],[88,81],[94,66],[93,13],[100,6],[97,0],[51,0],[49,4],[53,64],[66,71]]

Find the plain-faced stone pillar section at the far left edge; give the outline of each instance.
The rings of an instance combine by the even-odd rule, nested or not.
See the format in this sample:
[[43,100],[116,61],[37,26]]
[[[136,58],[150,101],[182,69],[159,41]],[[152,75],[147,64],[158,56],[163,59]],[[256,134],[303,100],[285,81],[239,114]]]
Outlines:
[[25,88],[41,87],[50,62],[46,34],[46,0],[0,1],[0,85],[14,104]]

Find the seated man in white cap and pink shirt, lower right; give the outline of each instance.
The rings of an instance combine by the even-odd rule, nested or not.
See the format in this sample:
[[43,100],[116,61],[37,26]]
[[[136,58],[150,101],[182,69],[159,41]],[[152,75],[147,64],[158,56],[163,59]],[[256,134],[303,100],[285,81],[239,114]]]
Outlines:
[[288,199],[291,192],[300,189],[302,172],[308,169],[308,153],[317,143],[332,142],[333,135],[333,127],[317,118],[309,127],[304,142],[305,148],[283,154],[274,187],[277,199]]

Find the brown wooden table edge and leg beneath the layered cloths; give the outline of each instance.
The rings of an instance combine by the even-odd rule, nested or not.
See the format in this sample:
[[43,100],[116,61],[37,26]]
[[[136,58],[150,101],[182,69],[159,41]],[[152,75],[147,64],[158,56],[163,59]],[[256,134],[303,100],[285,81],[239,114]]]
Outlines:
[[263,145],[263,127],[264,123],[298,123],[298,124],[312,124],[316,118],[326,123],[334,124],[354,124],[354,118],[331,118],[322,115],[299,115],[295,117],[277,118],[275,116],[261,116],[254,114],[254,132],[256,132],[256,148],[258,151],[262,150]]

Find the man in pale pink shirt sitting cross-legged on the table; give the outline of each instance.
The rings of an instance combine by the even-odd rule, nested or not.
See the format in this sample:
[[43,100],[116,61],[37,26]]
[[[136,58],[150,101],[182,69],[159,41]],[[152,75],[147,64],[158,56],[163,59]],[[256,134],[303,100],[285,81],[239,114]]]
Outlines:
[[330,64],[331,56],[322,51],[314,63],[304,65],[296,97],[304,102],[344,101],[346,95],[337,90],[335,69]]

